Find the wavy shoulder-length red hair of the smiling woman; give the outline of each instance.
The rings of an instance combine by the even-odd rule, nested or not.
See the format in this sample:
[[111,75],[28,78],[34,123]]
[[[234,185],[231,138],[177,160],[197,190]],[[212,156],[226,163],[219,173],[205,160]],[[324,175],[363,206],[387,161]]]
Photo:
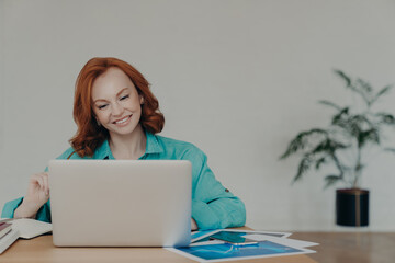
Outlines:
[[74,119],[77,133],[69,140],[80,157],[93,156],[94,150],[109,138],[109,132],[99,126],[92,108],[92,87],[94,80],[109,68],[116,67],[132,80],[139,95],[144,98],[139,124],[151,134],[160,133],[165,125],[163,114],[159,112],[158,100],[149,90],[144,76],[129,64],[117,58],[92,58],[81,69],[76,81]]

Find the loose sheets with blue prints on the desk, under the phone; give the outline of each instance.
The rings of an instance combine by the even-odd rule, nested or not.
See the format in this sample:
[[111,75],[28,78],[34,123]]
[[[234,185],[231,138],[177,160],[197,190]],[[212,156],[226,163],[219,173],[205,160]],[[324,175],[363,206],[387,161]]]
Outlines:
[[[222,232],[222,235],[218,235]],[[213,237],[238,237],[245,242],[236,244],[234,240],[213,240]],[[168,250],[199,262],[221,262],[232,260],[259,259],[280,255],[315,253],[306,249],[317,245],[308,241],[290,239],[291,233],[250,230],[221,229],[192,233],[192,243],[185,248],[169,248]],[[256,242],[253,242],[256,241]]]

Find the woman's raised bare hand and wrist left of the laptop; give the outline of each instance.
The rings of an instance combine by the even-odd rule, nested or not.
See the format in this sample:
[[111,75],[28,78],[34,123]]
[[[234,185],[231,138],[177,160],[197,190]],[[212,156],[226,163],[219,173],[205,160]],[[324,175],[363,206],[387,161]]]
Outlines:
[[37,173],[31,176],[27,194],[14,213],[14,218],[34,218],[38,209],[49,199],[48,173]]

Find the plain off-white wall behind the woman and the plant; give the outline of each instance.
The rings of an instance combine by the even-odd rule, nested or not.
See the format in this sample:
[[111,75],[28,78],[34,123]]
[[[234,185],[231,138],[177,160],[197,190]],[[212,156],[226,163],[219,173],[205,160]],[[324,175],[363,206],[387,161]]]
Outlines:
[[[114,56],[153,84],[162,135],[208,155],[248,226],[341,230],[335,188],[314,173],[291,186],[297,159],[278,158],[297,132],[328,123],[318,100],[348,100],[332,68],[395,82],[394,14],[391,0],[0,1],[0,205],[68,147],[84,62]],[[395,112],[394,99],[382,106]],[[394,160],[365,171],[369,230],[395,230]]]

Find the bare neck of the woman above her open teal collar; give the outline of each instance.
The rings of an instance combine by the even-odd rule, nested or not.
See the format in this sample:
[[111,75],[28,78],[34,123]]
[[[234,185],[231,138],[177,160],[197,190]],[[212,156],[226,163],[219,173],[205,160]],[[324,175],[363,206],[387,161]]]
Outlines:
[[110,134],[109,145],[115,159],[137,160],[145,153],[147,137],[140,125],[129,135]]

